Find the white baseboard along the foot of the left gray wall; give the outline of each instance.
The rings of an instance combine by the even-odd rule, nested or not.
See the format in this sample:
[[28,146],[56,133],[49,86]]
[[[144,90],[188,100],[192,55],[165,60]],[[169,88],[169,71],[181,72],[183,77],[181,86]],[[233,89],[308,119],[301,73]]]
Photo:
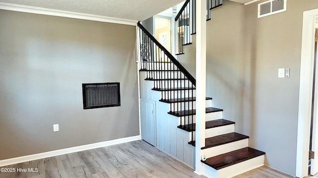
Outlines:
[[75,146],[75,147],[65,148],[65,149],[60,149],[60,150],[48,151],[48,152],[38,153],[38,154],[33,154],[33,155],[20,156],[20,157],[16,157],[16,158],[0,160],[0,167],[12,165],[12,164],[23,163],[23,162],[28,162],[28,161],[33,161],[33,160],[38,160],[38,159],[43,159],[43,158],[49,158],[52,156],[59,156],[59,155],[89,150],[89,149],[100,148],[100,147],[104,147],[104,146],[126,143],[126,142],[136,141],[136,140],[140,140],[140,139],[141,139],[141,135],[137,135],[137,136],[130,136],[130,137],[119,138],[119,139],[114,139],[114,140],[109,140],[109,141],[98,142],[98,143]]

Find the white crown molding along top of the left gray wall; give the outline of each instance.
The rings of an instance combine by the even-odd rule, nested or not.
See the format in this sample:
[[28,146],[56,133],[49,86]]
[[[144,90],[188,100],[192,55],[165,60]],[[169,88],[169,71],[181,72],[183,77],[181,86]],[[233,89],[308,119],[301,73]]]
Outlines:
[[138,22],[137,20],[121,19],[121,18],[107,17],[102,15],[93,15],[93,14],[71,12],[71,11],[65,11],[65,10],[49,9],[49,8],[43,8],[43,7],[34,7],[34,6],[28,6],[28,5],[5,3],[5,2],[0,2],[0,9],[43,14],[43,15],[52,15],[52,16],[59,16],[59,17],[69,17],[69,18],[84,19],[84,20],[92,20],[92,21],[99,21],[99,22],[133,25],[133,26],[136,26]]

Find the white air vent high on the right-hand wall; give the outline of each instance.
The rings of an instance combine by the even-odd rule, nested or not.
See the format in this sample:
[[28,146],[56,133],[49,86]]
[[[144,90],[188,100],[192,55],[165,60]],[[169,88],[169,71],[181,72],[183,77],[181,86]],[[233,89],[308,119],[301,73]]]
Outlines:
[[258,18],[286,11],[287,0],[268,0],[258,4]]

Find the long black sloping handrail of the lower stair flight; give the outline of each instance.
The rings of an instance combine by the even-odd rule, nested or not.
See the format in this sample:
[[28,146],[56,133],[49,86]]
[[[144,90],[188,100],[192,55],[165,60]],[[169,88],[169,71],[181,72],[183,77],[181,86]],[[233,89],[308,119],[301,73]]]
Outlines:
[[140,23],[138,22],[138,27],[141,28],[144,33],[167,55],[167,57],[173,62],[173,64],[187,77],[187,79],[195,86],[195,78],[177,61],[173,55],[161,45],[158,40]]

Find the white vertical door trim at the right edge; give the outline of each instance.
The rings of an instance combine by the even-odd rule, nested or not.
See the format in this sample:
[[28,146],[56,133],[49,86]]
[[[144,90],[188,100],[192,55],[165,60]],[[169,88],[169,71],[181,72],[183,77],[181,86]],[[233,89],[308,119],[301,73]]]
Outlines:
[[303,37],[299,83],[296,177],[308,176],[310,125],[312,109],[315,20],[318,9],[303,14]]

